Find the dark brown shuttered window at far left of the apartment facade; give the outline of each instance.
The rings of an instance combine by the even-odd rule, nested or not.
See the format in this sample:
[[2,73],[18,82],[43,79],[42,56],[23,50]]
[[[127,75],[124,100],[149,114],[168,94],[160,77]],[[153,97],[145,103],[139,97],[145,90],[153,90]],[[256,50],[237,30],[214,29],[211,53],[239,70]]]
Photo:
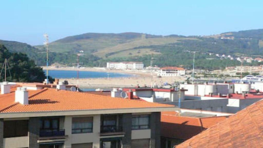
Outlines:
[[4,121],[4,138],[21,137],[28,134],[28,120]]

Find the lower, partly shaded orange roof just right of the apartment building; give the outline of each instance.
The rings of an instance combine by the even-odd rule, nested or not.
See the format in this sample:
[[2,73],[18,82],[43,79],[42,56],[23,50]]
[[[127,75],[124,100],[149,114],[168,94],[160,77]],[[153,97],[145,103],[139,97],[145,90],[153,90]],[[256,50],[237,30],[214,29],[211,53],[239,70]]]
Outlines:
[[161,113],[161,136],[187,140],[228,116],[184,117],[173,112]]

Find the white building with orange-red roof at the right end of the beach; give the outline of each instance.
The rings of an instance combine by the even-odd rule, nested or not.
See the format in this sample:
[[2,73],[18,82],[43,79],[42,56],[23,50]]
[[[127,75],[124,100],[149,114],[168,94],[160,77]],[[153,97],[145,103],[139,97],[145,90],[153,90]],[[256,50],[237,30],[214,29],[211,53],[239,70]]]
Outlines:
[[182,67],[162,67],[157,73],[158,76],[184,76],[185,69]]

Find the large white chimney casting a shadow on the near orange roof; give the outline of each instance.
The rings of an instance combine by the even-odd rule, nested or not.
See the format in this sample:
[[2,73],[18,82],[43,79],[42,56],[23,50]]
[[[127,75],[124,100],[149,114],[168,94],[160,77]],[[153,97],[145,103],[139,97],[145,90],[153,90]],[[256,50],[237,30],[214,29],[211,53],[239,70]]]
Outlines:
[[17,87],[15,94],[15,101],[21,104],[28,104],[28,91],[27,88]]

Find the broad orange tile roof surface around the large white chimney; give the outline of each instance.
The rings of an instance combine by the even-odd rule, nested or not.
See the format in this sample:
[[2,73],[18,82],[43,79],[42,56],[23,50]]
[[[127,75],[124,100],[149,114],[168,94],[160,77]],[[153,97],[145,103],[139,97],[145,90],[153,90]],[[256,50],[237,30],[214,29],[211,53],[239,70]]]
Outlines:
[[4,107],[4,110],[0,110],[0,113],[174,107],[173,105],[112,98],[109,96],[56,90],[52,88],[29,91],[29,96],[29,105],[22,105],[14,102],[14,92],[0,95],[1,103],[7,105],[13,103],[12,106]]

